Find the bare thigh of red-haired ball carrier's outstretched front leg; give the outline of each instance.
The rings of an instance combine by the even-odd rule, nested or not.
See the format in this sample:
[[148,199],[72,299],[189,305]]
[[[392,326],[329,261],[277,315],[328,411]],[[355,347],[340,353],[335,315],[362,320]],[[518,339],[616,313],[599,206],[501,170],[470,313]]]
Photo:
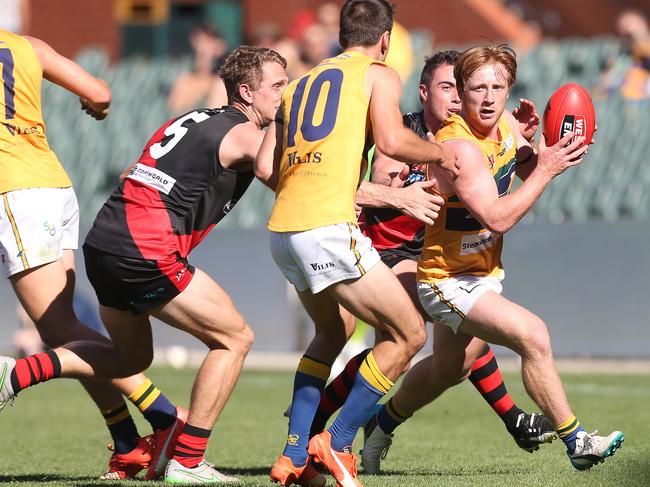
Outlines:
[[476,301],[459,330],[517,352],[548,338],[538,316],[493,291]]

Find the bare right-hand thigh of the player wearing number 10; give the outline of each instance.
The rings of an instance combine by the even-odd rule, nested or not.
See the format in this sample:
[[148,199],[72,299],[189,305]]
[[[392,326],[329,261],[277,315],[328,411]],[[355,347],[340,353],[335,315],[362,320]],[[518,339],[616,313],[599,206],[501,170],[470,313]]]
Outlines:
[[422,317],[395,274],[382,262],[359,279],[344,281],[328,292],[347,310],[380,332],[420,332]]

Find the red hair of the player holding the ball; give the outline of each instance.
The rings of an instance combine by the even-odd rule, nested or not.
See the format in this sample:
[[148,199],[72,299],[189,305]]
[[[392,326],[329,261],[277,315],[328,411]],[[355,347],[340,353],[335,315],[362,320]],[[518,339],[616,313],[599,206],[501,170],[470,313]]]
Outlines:
[[467,80],[484,66],[500,64],[506,71],[508,88],[517,81],[517,55],[507,44],[470,47],[460,55],[454,67],[458,93],[463,93]]

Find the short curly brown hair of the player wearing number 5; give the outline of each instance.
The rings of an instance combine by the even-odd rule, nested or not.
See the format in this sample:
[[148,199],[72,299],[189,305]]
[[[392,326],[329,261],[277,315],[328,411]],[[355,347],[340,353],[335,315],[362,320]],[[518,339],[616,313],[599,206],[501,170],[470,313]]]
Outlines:
[[257,89],[262,81],[265,63],[278,63],[287,67],[287,60],[273,49],[266,47],[241,46],[228,56],[219,70],[219,76],[226,86],[228,103],[239,100],[239,87],[243,84]]

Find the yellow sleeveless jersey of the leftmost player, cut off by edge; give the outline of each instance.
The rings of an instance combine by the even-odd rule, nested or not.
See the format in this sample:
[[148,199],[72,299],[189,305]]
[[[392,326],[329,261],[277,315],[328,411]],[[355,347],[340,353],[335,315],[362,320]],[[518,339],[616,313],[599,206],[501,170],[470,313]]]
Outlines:
[[43,69],[30,42],[0,30],[0,193],[68,188],[41,114]]

